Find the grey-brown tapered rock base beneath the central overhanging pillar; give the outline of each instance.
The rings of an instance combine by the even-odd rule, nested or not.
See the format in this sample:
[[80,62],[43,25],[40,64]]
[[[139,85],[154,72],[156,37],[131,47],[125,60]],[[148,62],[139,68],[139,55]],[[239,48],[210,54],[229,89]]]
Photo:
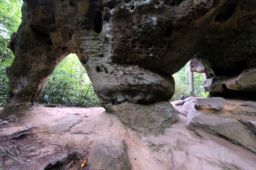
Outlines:
[[123,102],[117,105],[109,104],[105,108],[128,127],[145,135],[162,133],[165,127],[178,122],[177,112],[170,102],[149,104]]

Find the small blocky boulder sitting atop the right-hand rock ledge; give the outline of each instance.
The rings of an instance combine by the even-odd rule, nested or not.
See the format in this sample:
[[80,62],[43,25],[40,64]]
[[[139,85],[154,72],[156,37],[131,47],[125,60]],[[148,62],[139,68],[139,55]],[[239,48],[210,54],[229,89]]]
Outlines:
[[195,107],[199,110],[221,110],[225,106],[225,99],[221,97],[196,98]]

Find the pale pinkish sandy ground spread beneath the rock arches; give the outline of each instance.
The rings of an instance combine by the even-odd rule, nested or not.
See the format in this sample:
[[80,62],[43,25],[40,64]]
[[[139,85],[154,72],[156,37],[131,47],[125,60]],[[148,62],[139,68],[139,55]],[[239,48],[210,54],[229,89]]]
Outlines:
[[[174,105],[174,103],[172,103]],[[50,130],[62,116],[74,114],[82,121],[64,133]],[[186,120],[186,116],[180,114]],[[78,156],[84,159],[91,151],[91,142],[95,136],[116,136],[125,138],[131,170],[229,170],[256,169],[256,155],[238,145],[198,130],[187,130],[184,123],[167,128],[158,136],[142,136],[136,130],[126,127],[116,116],[105,112],[104,108],[45,108],[34,107],[26,113],[18,114],[17,123],[0,126],[0,146],[5,142],[19,145],[20,155],[33,155],[29,160],[20,159],[30,166],[26,169],[36,170],[49,161],[60,158],[76,149]],[[6,136],[28,127],[29,135],[12,141]],[[74,133],[88,134],[74,134]],[[58,146],[51,143],[61,144]],[[35,150],[29,150],[34,146]],[[65,146],[65,147],[64,147]],[[20,158],[17,151],[13,151]],[[3,160],[4,161],[4,160]],[[174,162],[174,164],[173,164]],[[88,160],[87,164],[90,164]],[[81,168],[81,161],[72,169]],[[83,169],[87,169],[88,165]],[[22,169],[9,167],[7,169]],[[62,169],[70,169],[62,167]]]

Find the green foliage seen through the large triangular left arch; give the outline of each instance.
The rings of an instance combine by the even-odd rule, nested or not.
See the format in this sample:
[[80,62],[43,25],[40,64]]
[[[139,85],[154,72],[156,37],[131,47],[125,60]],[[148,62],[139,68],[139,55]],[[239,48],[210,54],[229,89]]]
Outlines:
[[84,67],[73,54],[67,56],[52,73],[38,103],[100,106]]

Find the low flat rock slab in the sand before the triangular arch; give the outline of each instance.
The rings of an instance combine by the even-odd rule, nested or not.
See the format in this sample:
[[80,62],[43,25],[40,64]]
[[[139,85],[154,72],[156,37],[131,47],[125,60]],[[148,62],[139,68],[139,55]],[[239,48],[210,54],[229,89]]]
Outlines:
[[58,132],[64,133],[64,132],[67,132],[70,129],[70,127],[80,123],[81,121],[82,121],[82,119],[80,119],[76,115],[70,114],[70,115],[67,115],[67,116],[62,116],[58,120],[58,123],[56,123],[52,127],[49,127],[49,129],[50,130],[56,130]]

